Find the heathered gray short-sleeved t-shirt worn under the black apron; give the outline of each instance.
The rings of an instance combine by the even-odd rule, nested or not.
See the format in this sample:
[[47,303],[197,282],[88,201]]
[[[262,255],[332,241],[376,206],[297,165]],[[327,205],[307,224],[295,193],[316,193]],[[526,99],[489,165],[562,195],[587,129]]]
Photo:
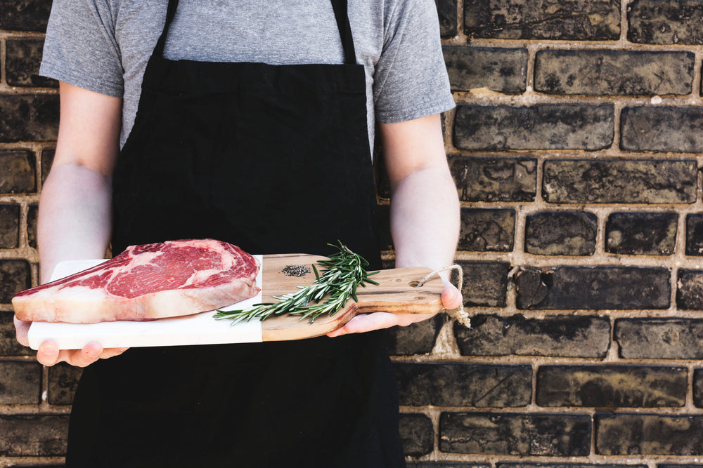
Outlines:
[[[134,123],[167,0],[54,0],[40,73],[124,99]],[[368,129],[451,109],[433,0],[349,0],[356,61],[366,69]],[[342,63],[329,0],[181,0],[166,58],[271,65]]]

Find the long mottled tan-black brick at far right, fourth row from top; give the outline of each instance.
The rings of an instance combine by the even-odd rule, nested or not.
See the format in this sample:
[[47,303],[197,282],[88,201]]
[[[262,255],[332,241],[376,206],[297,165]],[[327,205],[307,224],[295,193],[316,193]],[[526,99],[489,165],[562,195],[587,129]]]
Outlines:
[[695,203],[693,160],[553,159],[544,162],[549,203]]

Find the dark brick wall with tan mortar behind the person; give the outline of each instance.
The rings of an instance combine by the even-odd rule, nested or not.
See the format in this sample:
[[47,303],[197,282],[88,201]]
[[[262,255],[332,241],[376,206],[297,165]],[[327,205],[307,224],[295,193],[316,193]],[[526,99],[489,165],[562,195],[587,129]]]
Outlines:
[[[0,466],[63,463],[79,375],[16,345],[9,305],[56,140],[49,6],[0,4]],[[389,339],[409,466],[701,464],[703,1],[437,6],[475,316]]]

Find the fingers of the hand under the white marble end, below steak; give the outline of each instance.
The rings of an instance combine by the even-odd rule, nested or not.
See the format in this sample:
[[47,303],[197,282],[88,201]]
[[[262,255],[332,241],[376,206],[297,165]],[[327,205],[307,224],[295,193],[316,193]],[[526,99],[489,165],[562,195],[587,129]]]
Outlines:
[[[17,340],[22,346],[29,346],[30,342],[27,339],[27,332],[30,330],[32,322],[22,321],[16,316],[15,332]],[[98,359],[108,359],[112,356],[117,356],[127,351],[128,348],[103,348],[100,343],[90,342],[83,349],[58,349],[56,342],[46,340],[39,345],[37,350],[37,361],[44,366],[53,366],[56,363],[65,362],[71,366],[86,367],[94,363]]]

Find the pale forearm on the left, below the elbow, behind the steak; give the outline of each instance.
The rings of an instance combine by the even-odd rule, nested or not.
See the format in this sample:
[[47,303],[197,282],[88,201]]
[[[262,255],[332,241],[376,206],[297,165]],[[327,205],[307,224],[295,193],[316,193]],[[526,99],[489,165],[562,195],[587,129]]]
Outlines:
[[72,163],[51,168],[41,190],[38,242],[40,280],[61,260],[103,258],[111,232],[109,178]]

